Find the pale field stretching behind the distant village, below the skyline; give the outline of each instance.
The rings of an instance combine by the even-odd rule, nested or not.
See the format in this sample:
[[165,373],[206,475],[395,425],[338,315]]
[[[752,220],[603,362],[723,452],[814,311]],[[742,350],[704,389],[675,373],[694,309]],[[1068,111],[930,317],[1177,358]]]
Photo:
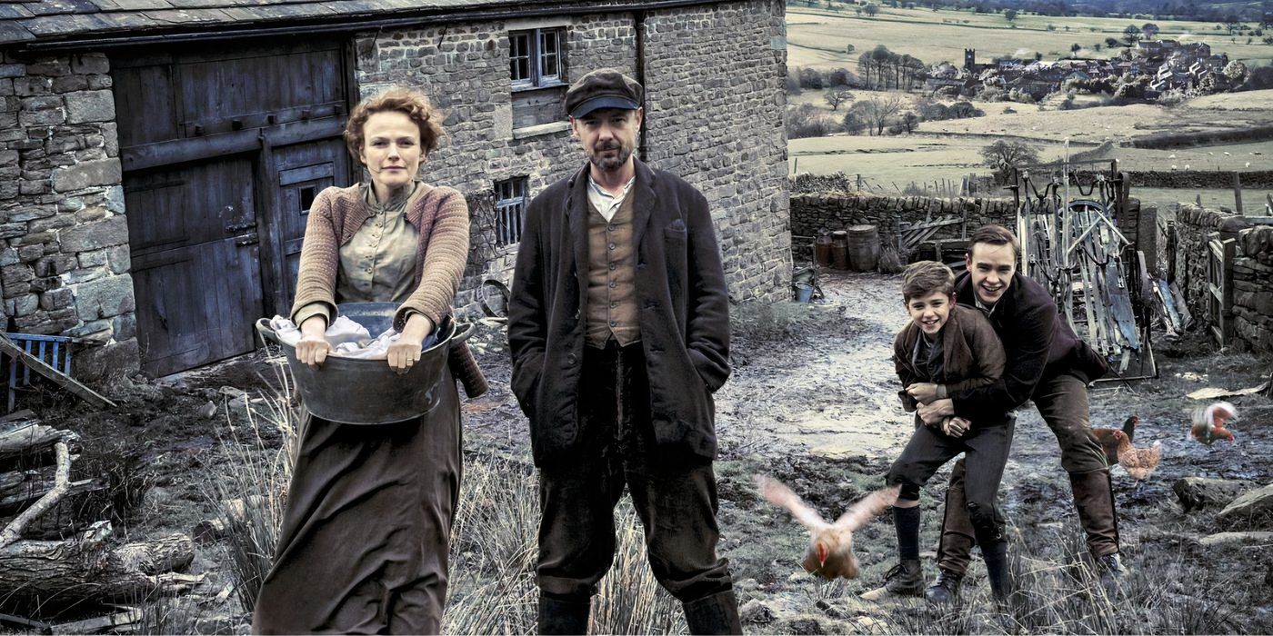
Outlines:
[[[1085,47],[1086,57],[1109,57],[1122,48],[1104,47],[1105,38],[1120,37],[1128,24],[1141,25],[1153,22],[1162,31],[1161,38],[1185,42],[1206,42],[1212,52],[1228,53],[1231,60],[1253,65],[1273,61],[1273,46],[1256,37],[1246,45],[1246,36],[1232,36],[1216,31],[1216,24],[1178,20],[1133,20],[1130,18],[1053,18],[1045,15],[1018,15],[1009,23],[1002,14],[978,14],[967,10],[892,9],[880,6],[875,18],[857,17],[852,10],[827,11],[801,6],[787,8],[788,69],[847,67],[857,71],[858,55],[885,45],[897,53],[908,53],[925,64],[948,61],[962,65],[964,48],[975,48],[978,61],[990,61],[1002,55],[1032,57],[1035,51],[1044,60],[1057,60],[1071,55],[1071,46]],[[1055,31],[1048,31],[1048,25]],[[1012,27],[1016,28],[1012,28]],[[1066,31],[1066,28],[1069,31]],[[1094,45],[1101,43],[1101,51]],[[853,45],[854,52],[847,52]]]

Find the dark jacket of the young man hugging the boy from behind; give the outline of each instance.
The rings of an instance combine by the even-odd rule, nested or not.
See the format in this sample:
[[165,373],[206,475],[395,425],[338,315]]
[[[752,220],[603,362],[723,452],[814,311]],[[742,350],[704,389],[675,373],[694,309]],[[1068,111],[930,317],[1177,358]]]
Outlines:
[[[955,294],[960,304],[975,307],[973,277],[967,272],[955,280]],[[1007,354],[1003,375],[992,384],[950,392],[955,415],[975,421],[978,413],[1023,404],[1045,378],[1069,374],[1088,383],[1109,370],[1105,360],[1060,319],[1051,294],[1021,272],[1012,275],[1012,284],[995,303],[989,321]]]

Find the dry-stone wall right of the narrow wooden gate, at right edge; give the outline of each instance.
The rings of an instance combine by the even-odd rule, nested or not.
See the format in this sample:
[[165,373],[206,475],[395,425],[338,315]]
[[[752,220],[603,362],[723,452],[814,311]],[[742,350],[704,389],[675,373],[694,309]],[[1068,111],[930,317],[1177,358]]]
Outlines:
[[1260,354],[1273,354],[1273,226],[1237,234],[1234,259],[1234,335]]

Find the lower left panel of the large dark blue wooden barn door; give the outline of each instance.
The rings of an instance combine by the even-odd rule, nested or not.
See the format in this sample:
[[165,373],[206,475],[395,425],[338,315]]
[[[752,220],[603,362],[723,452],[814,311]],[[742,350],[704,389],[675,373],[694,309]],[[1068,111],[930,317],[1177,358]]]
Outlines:
[[129,179],[137,345],[148,371],[252,350],[262,313],[252,173],[251,158],[239,156]]

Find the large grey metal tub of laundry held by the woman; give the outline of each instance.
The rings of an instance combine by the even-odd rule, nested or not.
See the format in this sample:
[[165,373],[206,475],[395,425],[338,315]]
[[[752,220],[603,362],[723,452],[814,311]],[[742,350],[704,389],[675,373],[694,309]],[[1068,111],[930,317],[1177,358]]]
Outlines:
[[[377,336],[392,326],[398,307],[397,303],[346,303],[337,307],[337,313]],[[340,424],[393,424],[432,411],[442,398],[439,392],[447,388],[442,380],[452,345],[472,335],[471,324],[457,333],[456,323],[444,321],[442,328],[434,331],[438,341],[421,351],[420,360],[400,375],[384,360],[328,355],[322,366],[300,364],[295,347],[279,340],[269,319],[257,321],[256,329],[283,347],[306,408]]]

